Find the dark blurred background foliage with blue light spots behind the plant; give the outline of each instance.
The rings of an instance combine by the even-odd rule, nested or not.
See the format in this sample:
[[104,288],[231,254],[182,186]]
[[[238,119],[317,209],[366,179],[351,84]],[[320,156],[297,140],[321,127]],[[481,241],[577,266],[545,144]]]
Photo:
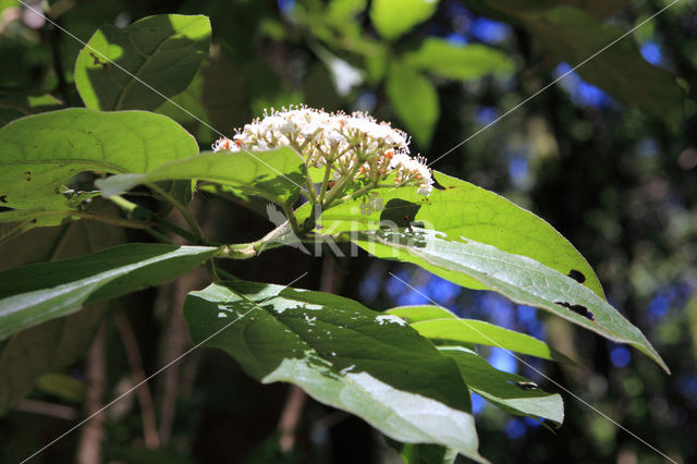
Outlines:
[[[351,9],[366,2],[330,3]],[[613,61],[610,50],[598,58],[610,66],[608,73],[620,89],[606,85],[589,63],[588,69],[579,70],[580,75],[571,73],[486,127],[609,41],[598,42],[594,29],[586,27],[585,36],[580,34],[580,39],[571,42],[584,47],[555,49],[550,44],[563,40],[550,39],[541,23],[525,20],[530,11],[550,5],[529,3],[442,0],[428,21],[393,41],[381,38],[364,9],[358,8],[355,17],[332,16],[331,7],[319,0],[61,0],[49,2],[49,14],[82,40],[105,23],[124,27],[157,13],[208,15],[213,32],[211,52],[189,88],[174,100],[225,135],[260,115],[266,107],[307,103],[327,110],[369,111],[392,121],[413,133],[413,152],[420,151],[430,160],[457,146],[433,167],[498,192],[553,224],[597,270],[610,303],[647,334],[671,367],[671,376],[636,351],[576,330],[558,318],[516,306],[490,292],[460,289],[412,266],[377,262],[366,254],[352,259],[328,254],[317,259],[284,248],[264,253],[255,260],[236,261],[228,269],[247,280],[276,283],[291,282],[307,271],[296,286],[331,289],[376,309],[427,303],[388,273],[395,272],[460,315],[530,333],[583,359],[580,368],[531,358],[523,364],[503,351],[491,350],[492,365],[525,375],[547,391],[559,391],[566,408],[564,425],[553,434],[475,398],[480,452],[492,462],[663,461],[539,371],[673,459],[694,462],[697,10],[687,1],[678,2],[625,38],[640,50],[637,56],[644,61],[635,63],[636,68]],[[667,3],[590,0],[565,4],[595,17],[598,24],[615,24],[622,32]],[[425,100],[423,93],[391,90],[391,73],[399,69],[386,63],[430,37],[463,48],[487,45],[505,53],[514,69],[464,81],[424,73],[426,86],[437,95],[432,101]],[[2,122],[17,117],[16,101],[26,100],[27,95],[51,94],[56,99],[44,101],[46,107],[77,105],[73,63],[81,47],[15,2],[0,1]],[[586,49],[590,53],[584,54]],[[335,60],[341,60],[343,68],[332,74]],[[668,99],[658,111],[647,110],[652,103],[643,102],[645,97],[668,82],[663,74],[655,78],[645,72],[647,62],[673,73],[686,98]],[[360,77],[347,80],[354,74]],[[633,98],[636,101],[629,101]],[[44,106],[28,105],[20,113],[41,111]],[[431,126],[409,123],[423,121],[419,118],[433,108],[437,119]],[[218,137],[171,103],[158,111],[184,124],[203,148]],[[685,114],[685,119],[674,114]],[[253,212],[203,192],[193,207],[216,240],[250,241],[271,228]],[[82,222],[35,230],[2,246],[0,267],[84,254],[120,243],[123,233],[149,240],[134,231],[114,232]],[[70,316],[62,328],[53,330],[60,345],[37,338],[33,350],[45,351],[45,359],[51,359],[46,364],[65,368],[39,378],[42,380],[29,396],[0,418],[0,461],[21,461],[81,417],[84,407],[89,407],[85,384],[94,375],[95,359],[101,357],[106,365],[102,393],[107,400],[131,387],[134,365],[124,341],[126,350],[135,346],[139,351],[144,373],[154,373],[188,349],[191,342],[180,316],[182,297],[203,282],[201,276],[192,273],[157,290],[89,307],[91,318]],[[112,316],[102,318],[109,314]],[[101,326],[99,320],[103,320]],[[133,340],[124,332],[124,320]],[[97,327],[101,329],[94,339]],[[87,357],[77,354],[90,343]],[[8,356],[7,344],[0,347],[0,356]],[[61,350],[73,354],[56,361],[56,352]],[[292,403],[289,388],[258,384],[220,352],[194,352],[154,379],[150,391],[159,447],[148,450],[145,445],[142,411],[133,394],[107,411],[93,427],[105,435],[106,461],[377,463],[394,459],[365,423],[311,400],[297,410],[293,451],[281,453],[279,418]],[[85,426],[68,436],[35,462],[70,461],[88,452],[87,429]]]

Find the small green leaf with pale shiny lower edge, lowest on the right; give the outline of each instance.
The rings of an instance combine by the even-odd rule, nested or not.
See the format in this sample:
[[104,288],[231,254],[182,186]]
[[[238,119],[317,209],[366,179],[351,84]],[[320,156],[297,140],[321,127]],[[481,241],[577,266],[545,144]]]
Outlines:
[[462,346],[440,346],[444,356],[451,356],[460,366],[467,387],[503,411],[528,417],[541,417],[557,425],[564,422],[564,402],[558,393],[540,389],[521,388],[529,382],[525,377],[494,369],[477,353]]

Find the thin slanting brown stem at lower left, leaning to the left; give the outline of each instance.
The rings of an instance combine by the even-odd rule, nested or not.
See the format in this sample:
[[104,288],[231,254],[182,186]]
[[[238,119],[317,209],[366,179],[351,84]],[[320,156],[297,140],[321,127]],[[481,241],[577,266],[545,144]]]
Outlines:
[[150,394],[150,388],[145,381],[145,369],[143,368],[143,359],[140,358],[140,351],[138,350],[138,342],[131,328],[129,318],[122,309],[113,312],[113,321],[121,334],[121,341],[126,352],[126,358],[131,366],[131,376],[133,377],[133,383],[139,384],[136,389],[138,396],[138,403],[140,404],[140,416],[143,418],[143,434],[145,436],[145,445],[150,450],[160,448],[160,437],[157,434],[157,423],[155,422],[155,405],[152,403],[152,395]]

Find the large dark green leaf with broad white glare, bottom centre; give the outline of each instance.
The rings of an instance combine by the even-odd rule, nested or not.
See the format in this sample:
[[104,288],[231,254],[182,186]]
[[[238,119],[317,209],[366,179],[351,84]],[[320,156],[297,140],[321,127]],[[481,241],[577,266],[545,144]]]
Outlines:
[[329,293],[235,281],[191,293],[184,317],[195,343],[225,351],[264,383],[295,383],[395,440],[486,461],[456,366],[395,316]]

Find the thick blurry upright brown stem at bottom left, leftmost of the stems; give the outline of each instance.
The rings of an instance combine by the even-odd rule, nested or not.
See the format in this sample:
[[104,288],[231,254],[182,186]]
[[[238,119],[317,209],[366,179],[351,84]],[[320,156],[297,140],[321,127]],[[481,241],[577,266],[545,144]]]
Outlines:
[[[87,351],[85,377],[87,390],[85,391],[85,416],[91,417],[103,405],[105,389],[107,387],[107,368],[105,363],[105,347],[107,334],[102,322]],[[102,462],[101,444],[105,438],[105,416],[97,414],[91,417],[82,429],[77,442],[78,464],[99,464]]]

